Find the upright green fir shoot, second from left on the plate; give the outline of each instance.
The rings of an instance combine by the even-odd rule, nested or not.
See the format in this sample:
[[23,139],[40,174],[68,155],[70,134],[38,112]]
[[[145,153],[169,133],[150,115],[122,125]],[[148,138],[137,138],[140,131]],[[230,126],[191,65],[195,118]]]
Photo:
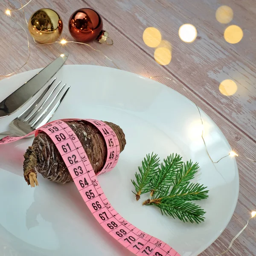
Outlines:
[[155,173],[151,180],[151,197],[159,189],[169,188],[170,184],[175,181],[177,170],[182,166],[182,157],[178,154],[171,154],[163,160],[158,172]]

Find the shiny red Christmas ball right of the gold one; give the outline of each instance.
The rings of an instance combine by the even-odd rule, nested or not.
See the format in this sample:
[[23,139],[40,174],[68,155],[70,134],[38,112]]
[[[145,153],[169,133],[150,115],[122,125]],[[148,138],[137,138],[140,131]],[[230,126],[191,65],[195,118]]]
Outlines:
[[79,42],[86,43],[100,40],[105,31],[100,15],[93,9],[83,8],[74,12],[69,20],[69,31]]

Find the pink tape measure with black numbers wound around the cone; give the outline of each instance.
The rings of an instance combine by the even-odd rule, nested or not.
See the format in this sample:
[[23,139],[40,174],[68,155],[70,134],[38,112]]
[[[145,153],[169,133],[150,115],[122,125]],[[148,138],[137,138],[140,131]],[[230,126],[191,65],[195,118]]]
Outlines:
[[[113,129],[102,121],[94,119],[62,119],[49,122],[26,136],[31,134],[36,136],[40,131],[48,134],[58,148],[87,207],[99,224],[120,244],[137,256],[180,256],[168,244],[139,230],[116,212],[99,185],[81,142],[74,131],[64,122],[71,120],[85,120],[99,129],[105,138],[108,157],[102,171],[97,175],[111,171],[118,161],[120,147]],[[0,145],[20,140],[24,137],[5,137],[0,140]]]

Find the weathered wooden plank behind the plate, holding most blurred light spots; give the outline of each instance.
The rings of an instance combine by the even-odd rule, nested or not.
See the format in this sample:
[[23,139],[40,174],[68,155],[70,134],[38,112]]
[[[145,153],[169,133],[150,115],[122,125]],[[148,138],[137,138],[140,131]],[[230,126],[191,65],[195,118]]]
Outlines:
[[[207,9],[208,2],[205,3],[203,0],[83,0],[83,2],[85,6],[98,10],[119,30],[120,34],[125,35],[127,38],[125,41],[134,41],[135,45],[150,56],[154,56],[154,49],[145,46],[142,35],[146,27],[157,27],[163,39],[172,43],[172,61],[163,69],[187,84],[190,90],[215,108],[215,111],[256,140],[254,67],[248,61],[239,58],[243,55],[242,50],[236,54],[234,52],[236,46],[224,41],[223,31],[219,32],[215,29],[215,25],[219,26],[215,20],[215,7],[212,7],[208,14],[207,10],[210,10]],[[201,6],[204,6],[203,17],[211,16],[212,23],[204,21],[201,18],[203,14],[196,12],[196,9],[203,10]],[[214,6],[217,6],[217,3]],[[236,12],[245,12],[245,10]],[[234,22],[238,16],[235,15]],[[215,20],[214,23],[212,20]],[[183,23],[192,23],[198,29],[198,39],[192,44],[184,43],[178,37],[178,29]],[[247,23],[244,21],[242,27]],[[249,37],[248,34],[249,32],[245,31],[244,38]],[[247,44],[244,44],[244,41],[246,42],[242,40],[238,45],[243,44],[246,49]],[[240,49],[238,48],[237,51]],[[255,49],[251,53],[255,53]],[[224,79],[233,79],[236,82],[238,91],[234,96],[223,96],[219,92],[218,86]]]

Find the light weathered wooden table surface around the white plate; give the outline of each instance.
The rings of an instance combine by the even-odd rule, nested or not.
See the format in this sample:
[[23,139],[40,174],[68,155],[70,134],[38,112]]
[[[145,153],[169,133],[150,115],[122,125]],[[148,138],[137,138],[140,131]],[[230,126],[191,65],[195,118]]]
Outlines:
[[[22,3],[26,1],[22,0]],[[19,8],[20,2],[3,0],[0,5],[5,11],[7,7]],[[233,9],[234,18],[230,24],[243,29],[244,37],[238,44],[224,40],[227,25],[215,19],[215,11],[221,5]],[[178,81],[172,88],[202,108],[221,128],[238,154],[256,158],[255,0],[34,0],[23,10],[28,19],[40,8],[54,9],[64,21],[63,36],[72,39],[67,29],[68,19],[76,9],[84,7],[95,9],[102,15],[105,30],[114,41],[112,47],[97,42],[91,43],[93,47],[100,49],[123,70],[147,77],[167,76]],[[26,26],[22,12],[13,13],[12,17]],[[192,23],[198,30],[198,36],[191,44],[184,43],[178,36],[178,29],[184,23]],[[20,67],[26,59],[26,35],[3,13],[0,25],[0,72],[5,74]],[[154,49],[143,42],[143,31],[151,26],[159,29],[163,39],[172,44],[169,65],[157,64]],[[31,57],[19,72],[44,67],[63,52],[59,44],[41,46],[32,38],[30,47]],[[65,49],[70,53],[67,64],[113,66],[103,54],[86,46],[68,44]],[[236,82],[238,90],[233,96],[219,92],[218,86],[224,79]],[[158,80],[171,86],[166,79]],[[250,212],[256,209],[256,164],[241,157],[237,158],[237,163],[240,194],[235,214],[222,235],[201,253],[202,256],[214,256],[225,250],[250,217]],[[226,255],[255,256],[255,229],[256,221],[252,220]]]

